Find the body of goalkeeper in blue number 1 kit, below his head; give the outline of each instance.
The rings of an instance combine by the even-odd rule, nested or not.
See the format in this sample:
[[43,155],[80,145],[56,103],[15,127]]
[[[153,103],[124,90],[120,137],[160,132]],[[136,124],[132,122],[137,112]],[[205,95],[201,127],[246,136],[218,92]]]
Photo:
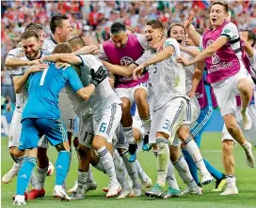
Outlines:
[[28,98],[22,117],[23,128],[19,144],[19,149],[24,151],[24,164],[18,174],[14,205],[25,204],[24,190],[36,165],[38,141],[42,134],[58,151],[54,192],[60,199],[70,200],[62,187],[69,169],[70,145],[67,130],[60,120],[60,111],[57,107],[58,94],[69,83],[79,97],[87,100],[95,87],[107,77],[104,67],[99,68],[88,87],[83,87],[72,67],[61,70],[56,68],[55,64],[47,62],[45,64],[48,65],[46,69],[33,74],[28,80]]

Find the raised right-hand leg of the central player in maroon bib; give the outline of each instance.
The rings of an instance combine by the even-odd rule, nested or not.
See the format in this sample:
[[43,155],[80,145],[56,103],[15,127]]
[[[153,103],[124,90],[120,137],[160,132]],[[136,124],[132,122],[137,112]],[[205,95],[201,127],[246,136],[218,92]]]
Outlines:
[[148,103],[148,88],[147,83],[141,83],[134,89],[134,97],[136,101],[136,107],[139,114],[139,117],[142,122],[144,129],[144,138],[143,138],[143,150],[149,151],[151,146],[149,146],[149,135],[151,129],[151,115],[150,107]]

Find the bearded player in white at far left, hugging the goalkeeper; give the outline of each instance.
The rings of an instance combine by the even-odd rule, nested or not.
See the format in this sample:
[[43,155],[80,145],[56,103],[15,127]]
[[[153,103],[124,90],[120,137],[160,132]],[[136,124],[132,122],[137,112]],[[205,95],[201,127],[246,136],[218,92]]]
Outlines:
[[[42,29],[40,25],[37,25],[36,27],[34,25],[34,29],[32,31],[26,29],[24,32],[24,38],[22,39],[23,48],[16,48],[8,52],[7,65],[12,67],[12,80],[16,92],[16,108],[11,120],[8,146],[10,153],[13,154],[16,163],[13,168],[3,177],[3,181],[5,183],[8,183],[11,178],[17,174],[24,162],[24,152],[19,151],[18,146],[22,130],[21,117],[27,98],[27,91],[24,88],[25,82],[31,73],[40,70],[40,68],[44,68],[41,65],[32,65],[40,63],[40,57],[49,54],[49,52],[42,52],[40,50],[40,37],[34,32],[39,32],[40,29]],[[33,200],[44,196],[45,191],[43,186],[40,185],[34,171],[32,172],[31,183],[33,185],[33,189],[29,193],[28,199]]]

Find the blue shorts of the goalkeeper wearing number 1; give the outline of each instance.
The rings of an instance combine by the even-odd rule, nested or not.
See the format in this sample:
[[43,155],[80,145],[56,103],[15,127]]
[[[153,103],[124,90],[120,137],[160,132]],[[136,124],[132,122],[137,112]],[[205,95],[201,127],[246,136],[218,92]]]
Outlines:
[[53,146],[68,140],[66,127],[61,120],[26,118],[22,121],[19,150],[37,148],[43,134]]

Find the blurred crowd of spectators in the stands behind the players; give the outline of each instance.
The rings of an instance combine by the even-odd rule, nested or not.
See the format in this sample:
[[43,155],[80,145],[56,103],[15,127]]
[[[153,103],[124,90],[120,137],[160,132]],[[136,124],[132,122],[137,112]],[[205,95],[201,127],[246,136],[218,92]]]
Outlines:
[[[256,1],[229,3],[232,22],[239,29],[256,32]],[[209,6],[210,1],[1,1],[1,111],[14,111],[15,95],[5,58],[19,43],[29,22],[39,22],[50,36],[51,16],[66,14],[75,35],[96,37],[101,44],[109,38],[113,22],[124,22],[136,33],[143,33],[145,23],[151,19],[160,19],[168,28],[172,22],[184,22],[190,10],[196,16],[194,25],[204,31],[210,27]]]

